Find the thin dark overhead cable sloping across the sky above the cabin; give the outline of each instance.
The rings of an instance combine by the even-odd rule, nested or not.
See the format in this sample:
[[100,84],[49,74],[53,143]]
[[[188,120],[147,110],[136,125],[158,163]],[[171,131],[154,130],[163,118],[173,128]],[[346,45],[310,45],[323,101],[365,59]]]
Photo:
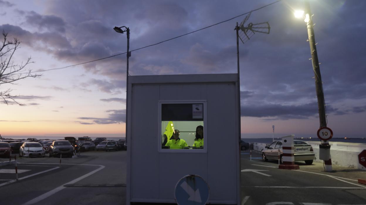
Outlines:
[[[164,42],[167,42],[167,41],[173,40],[173,39],[178,39],[178,38],[180,38],[180,37],[182,37],[182,36],[186,36],[186,35],[188,35],[188,34],[195,33],[195,32],[198,32],[198,31],[200,31],[200,30],[207,29],[207,28],[210,28],[210,27],[212,27],[212,26],[219,25],[220,23],[225,23],[225,22],[231,21],[232,19],[235,19],[235,18],[241,17],[241,16],[243,16],[243,15],[249,14],[250,12],[253,12],[253,11],[258,11],[258,10],[260,10],[260,9],[262,9],[262,8],[268,7],[268,6],[272,5],[272,4],[278,3],[278,2],[280,2],[280,1],[281,1],[281,0],[275,1],[275,2],[273,2],[273,3],[270,3],[270,4],[267,4],[267,5],[265,5],[265,6],[259,7],[259,8],[255,9],[255,10],[251,10],[251,11],[246,12],[246,13],[244,13],[244,14],[240,14],[240,15],[238,15],[238,16],[236,16],[236,17],[232,17],[232,18],[230,18],[230,19],[227,19],[227,20],[225,20],[225,21],[221,21],[221,22],[219,22],[219,23],[215,23],[215,24],[213,24],[213,25],[206,26],[205,28],[198,29],[198,30],[195,30],[195,31],[193,31],[193,32],[189,32],[189,33],[186,33],[186,34],[183,34],[183,35],[180,35],[180,36],[177,36],[177,37],[174,37],[174,38],[168,39],[168,40],[160,41],[159,43],[155,43],[155,44],[147,45],[147,46],[144,46],[144,47],[141,47],[141,48],[137,48],[137,49],[135,49],[135,50],[131,50],[130,52],[132,52],[132,51],[137,51],[137,50],[140,50],[140,49],[143,49],[143,48],[147,48],[147,47],[150,47],[150,46],[158,45],[158,44],[161,44],[161,43],[164,43]],[[32,71],[32,72],[30,72],[30,73],[38,73],[38,72],[45,72],[45,71],[49,71],[49,70],[60,70],[60,69],[65,69],[65,68],[68,68],[68,67],[73,67],[73,66],[83,65],[83,64],[86,64],[86,63],[91,63],[91,62],[95,62],[95,61],[104,60],[104,59],[107,59],[107,58],[112,58],[112,57],[115,57],[115,56],[117,56],[117,55],[122,55],[122,54],[126,54],[126,53],[127,53],[127,52],[124,52],[124,53],[120,53],[120,54],[116,54],[116,55],[108,56],[108,57],[105,57],[105,58],[95,59],[95,60],[93,60],[93,61],[87,61],[87,62],[78,63],[78,64],[74,64],[74,65],[70,65],[70,66],[65,66],[65,67],[59,67],[59,68],[52,68],[52,69],[46,69],[46,70]],[[29,73],[29,72],[28,72],[28,73]],[[19,73],[19,74],[27,74],[27,73]]]

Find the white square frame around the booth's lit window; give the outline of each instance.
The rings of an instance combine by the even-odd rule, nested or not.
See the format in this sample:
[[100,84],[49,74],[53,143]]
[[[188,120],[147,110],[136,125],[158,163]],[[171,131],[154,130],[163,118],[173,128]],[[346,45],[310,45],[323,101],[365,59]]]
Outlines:
[[[203,104],[203,139],[205,145],[203,149],[161,149],[161,105],[162,104]],[[207,100],[158,100],[158,153],[207,153]],[[178,128],[179,129],[179,128]],[[188,144],[188,146],[192,146]]]

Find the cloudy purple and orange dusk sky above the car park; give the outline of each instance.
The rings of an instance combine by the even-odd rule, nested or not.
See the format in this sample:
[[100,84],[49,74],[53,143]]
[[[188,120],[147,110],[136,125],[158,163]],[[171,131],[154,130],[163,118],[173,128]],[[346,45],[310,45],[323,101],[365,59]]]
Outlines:
[[[0,30],[21,48],[14,62],[31,56],[26,70],[93,61],[171,39],[275,2],[275,0],[0,0]],[[366,137],[366,1],[310,0],[328,127],[335,137]],[[282,0],[253,11],[249,22],[268,21],[270,34],[239,42],[243,137],[316,136],[319,128],[314,72],[302,0]],[[130,74],[236,73],[236,22],[212,26],[133,51]],[[40,72],[0,104],[1,136],[124,136],[126,54]]]

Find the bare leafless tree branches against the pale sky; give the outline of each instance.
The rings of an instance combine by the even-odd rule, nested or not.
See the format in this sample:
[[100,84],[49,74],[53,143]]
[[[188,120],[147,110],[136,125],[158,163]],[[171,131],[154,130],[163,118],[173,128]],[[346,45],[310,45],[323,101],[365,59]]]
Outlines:
[[[16,81],[27,78],[27,77],[40,77],[42,74],[32,74],[31,70],[25,70],[25,67],[34,63],[31,61],[31,57],[27,59],[26,62],[22,62],[20,65],[15,64],[12,61],[12,57],[17,49],[19,49],[20,41],[16,38],[12,40],[7,40],[8,33],[3,31],[4,41],[0,45],[0,86],[3,84],[11,84],[16,85]],[[4,91],[0,90],[0,96],[4,99],[4,103],[8,105],[8,100],[12,100],[18,105],[22,105],[18,103],[14,98],[19,95],[12,95],[11,92],[13,90],[11,88],[7,88]]]

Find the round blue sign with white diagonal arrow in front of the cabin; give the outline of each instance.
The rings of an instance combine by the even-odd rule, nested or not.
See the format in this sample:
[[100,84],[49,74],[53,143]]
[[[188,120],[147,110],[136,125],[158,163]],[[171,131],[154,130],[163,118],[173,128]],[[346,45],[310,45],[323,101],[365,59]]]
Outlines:
[[175,185],[175,201],[178,205],[205,205],[209,190],[208,184],[202,177],[187,175]]

